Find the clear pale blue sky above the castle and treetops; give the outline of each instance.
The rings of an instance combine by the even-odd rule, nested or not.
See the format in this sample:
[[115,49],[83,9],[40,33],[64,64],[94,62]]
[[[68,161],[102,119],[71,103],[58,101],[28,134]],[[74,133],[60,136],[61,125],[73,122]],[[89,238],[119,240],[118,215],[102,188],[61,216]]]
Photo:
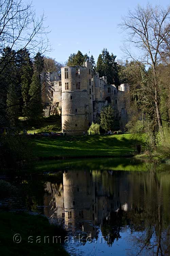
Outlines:
[[[120,46],[123,33],[118,24],[128,10],[133,10],[139,3],[146,5],[147,0],[32,0],[36,14],[46,15],[45,26],[49,26],[48,34],[53,51],[48,57],[64,62],[71,53],[80,50],[83,54],[90,51],[97,60],[103,48],[123,57]],[[151,4],[167,6],[168,0],[151,0]]]

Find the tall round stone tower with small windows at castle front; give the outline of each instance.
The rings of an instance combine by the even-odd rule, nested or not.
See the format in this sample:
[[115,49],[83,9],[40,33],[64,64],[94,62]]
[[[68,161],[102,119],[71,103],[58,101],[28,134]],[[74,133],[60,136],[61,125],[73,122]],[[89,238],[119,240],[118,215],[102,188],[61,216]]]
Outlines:
[[87,68],[63,67],[62,131],[68,135],[83,134],[88,129]]

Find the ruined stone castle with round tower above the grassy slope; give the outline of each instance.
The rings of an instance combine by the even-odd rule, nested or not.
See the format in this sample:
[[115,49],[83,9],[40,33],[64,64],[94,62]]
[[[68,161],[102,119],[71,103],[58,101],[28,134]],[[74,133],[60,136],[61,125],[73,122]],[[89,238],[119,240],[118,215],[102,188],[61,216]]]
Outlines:
[[92,122],[99,123],[104,106],[111,105],[120,129],[128,120],[126,98],[128,84],[107,84],[107,77],[92,71],[91,62],[83,66],[63,67],[61,75],[48,72],[42,77],[42,101],[45,115],[62,115],[62,131],[68,135],[83,134]]

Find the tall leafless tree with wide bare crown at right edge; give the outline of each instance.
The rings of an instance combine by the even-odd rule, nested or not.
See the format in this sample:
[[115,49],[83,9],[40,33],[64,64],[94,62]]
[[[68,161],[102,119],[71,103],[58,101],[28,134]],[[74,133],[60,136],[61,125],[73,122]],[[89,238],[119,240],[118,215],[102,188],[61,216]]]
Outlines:
[[[141,55],[141,62],[149,65],[152,69],[151,86],[154,93],[155,114],[159,131],[162,131],[157,67],[161,61],[165,43],[169,42],[170,38],[170,7],[164,9],[162,6],[152,7],[148,4],[146,8],[142,8],[138,5],[134,12],[129,11],[128,16],[123,17],[120,26],[127,31],[126,42],[137,47],[138,55]],[[128,48],[126,48],[126,53],[136,60]]]

